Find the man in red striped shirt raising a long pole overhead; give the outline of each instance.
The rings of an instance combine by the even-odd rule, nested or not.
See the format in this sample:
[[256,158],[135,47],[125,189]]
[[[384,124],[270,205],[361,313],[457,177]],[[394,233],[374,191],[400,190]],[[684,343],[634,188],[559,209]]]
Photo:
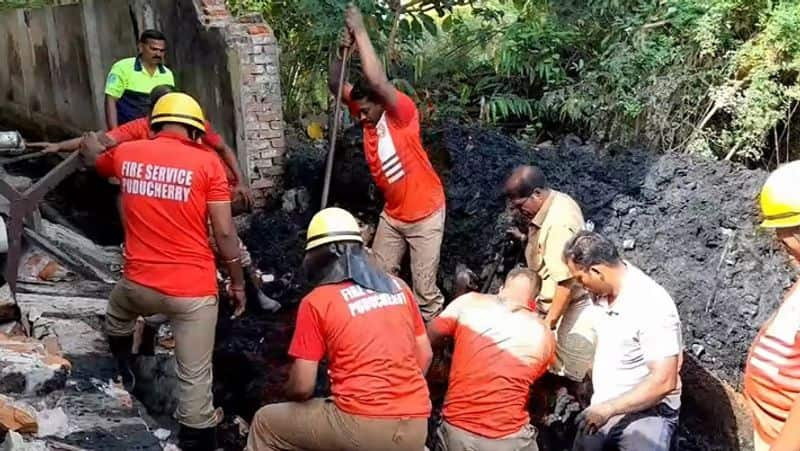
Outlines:
[[[386,78],[358,8],[349,7],[345,21],[348,32],[343,45],[354,41],[364,80],[355,86],[348,83],[342,100],[361,122],[367,165],[386,200],[372,250],[383,268],[395,275],[410,250],[414,294],[422,316],[430,321],[444,305],[436,285],[444,234],[444,189],[422,147],[414,101]],[[341,67],[341,58],[334,58],[329,74],[334,95]]]

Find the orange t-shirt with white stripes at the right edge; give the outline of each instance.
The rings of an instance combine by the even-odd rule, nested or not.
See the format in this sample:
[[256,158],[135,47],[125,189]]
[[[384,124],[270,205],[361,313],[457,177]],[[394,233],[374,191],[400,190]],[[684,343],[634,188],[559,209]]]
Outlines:
[[756,432],[771,445],[800,397],[800,283],[753,341],[744,394]]

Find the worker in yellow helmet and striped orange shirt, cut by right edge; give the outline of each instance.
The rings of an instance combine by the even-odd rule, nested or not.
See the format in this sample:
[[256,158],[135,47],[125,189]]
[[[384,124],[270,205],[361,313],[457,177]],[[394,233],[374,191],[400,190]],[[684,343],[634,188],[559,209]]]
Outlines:
[[[776,169],[760,196],[764,222],[800,264],[800,161]],[[800,449],[800,281],[756,336],[744,371],[755,451]]]

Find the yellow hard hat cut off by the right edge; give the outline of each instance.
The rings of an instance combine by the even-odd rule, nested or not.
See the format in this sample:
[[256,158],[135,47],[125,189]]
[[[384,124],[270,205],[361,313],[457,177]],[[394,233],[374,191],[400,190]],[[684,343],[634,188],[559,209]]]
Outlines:
[[785,164],[769,175],[761,188],[761,227],[800,226],[800,161]]

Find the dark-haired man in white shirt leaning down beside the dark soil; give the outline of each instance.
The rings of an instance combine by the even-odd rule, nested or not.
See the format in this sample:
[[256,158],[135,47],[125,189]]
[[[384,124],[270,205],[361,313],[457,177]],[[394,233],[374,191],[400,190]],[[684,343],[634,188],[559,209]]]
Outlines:
[[596,296],[594,395],[573,451],[667,451],[678,424],[683,342],[675,302],[616,246],[578,232],[564,249],[572,276]]

